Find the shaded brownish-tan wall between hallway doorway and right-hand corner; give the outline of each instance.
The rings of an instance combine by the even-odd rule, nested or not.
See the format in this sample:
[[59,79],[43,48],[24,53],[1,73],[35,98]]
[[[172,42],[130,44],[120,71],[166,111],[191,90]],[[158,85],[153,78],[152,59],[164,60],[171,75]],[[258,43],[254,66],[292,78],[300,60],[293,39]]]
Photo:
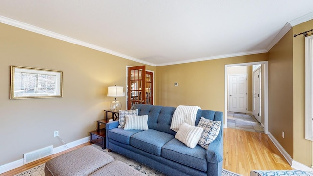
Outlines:
[[[268,131],[293,157],[292,30],[268,54]],[[282,138],[285,132],[285,138]]]

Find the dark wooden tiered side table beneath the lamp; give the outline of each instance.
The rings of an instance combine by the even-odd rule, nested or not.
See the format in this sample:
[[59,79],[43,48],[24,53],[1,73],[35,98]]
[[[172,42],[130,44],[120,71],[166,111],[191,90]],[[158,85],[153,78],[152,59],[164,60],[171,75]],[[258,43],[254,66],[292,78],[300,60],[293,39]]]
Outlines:
[[100,129],[100,124],[106,125],[105,119],[97,120],[98,128],[95,131],[90,132],[90,143],[95,143],[102,147],[106,148],[106,128]]

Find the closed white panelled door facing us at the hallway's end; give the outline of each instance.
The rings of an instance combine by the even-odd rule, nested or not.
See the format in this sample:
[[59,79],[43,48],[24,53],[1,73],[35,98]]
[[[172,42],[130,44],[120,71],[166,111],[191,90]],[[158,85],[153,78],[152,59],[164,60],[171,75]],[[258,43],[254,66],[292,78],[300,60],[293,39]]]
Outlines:
[[229,111],[246,113],[247,75],[229,75]]

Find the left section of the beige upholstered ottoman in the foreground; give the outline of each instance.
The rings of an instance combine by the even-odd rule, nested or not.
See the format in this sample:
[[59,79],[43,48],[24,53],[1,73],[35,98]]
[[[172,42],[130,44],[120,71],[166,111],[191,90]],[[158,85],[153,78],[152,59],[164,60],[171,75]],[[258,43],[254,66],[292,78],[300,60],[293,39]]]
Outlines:
[[88,176],[114,161],[114,158],[92,147],[84,146],[45,163],[45,176]]

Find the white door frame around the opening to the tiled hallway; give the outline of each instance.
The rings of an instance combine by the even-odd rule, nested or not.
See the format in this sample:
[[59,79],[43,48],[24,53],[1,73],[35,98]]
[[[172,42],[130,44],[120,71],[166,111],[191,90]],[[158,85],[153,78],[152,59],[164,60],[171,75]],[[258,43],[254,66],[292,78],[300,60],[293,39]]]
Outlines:
[[[231,66],[251,66],[255,64],[264,64],[264,133],[268,134],[268,61],[239,63],[239,64],[225,64],[225,117],[224,128],[227,128],[227,103],[228,103],[228,81],[227,81],[227,67]],[[262,96],[262,95],[261,95]]]

